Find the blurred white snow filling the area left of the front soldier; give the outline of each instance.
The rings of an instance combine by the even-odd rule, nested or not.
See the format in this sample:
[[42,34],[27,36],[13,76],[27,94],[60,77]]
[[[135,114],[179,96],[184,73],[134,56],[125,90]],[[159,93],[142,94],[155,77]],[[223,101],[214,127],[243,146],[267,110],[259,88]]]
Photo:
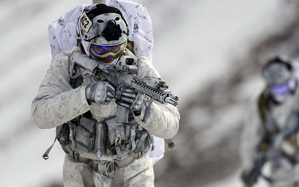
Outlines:
[[[0,186],[34,187],[61,181],[64,154],[54,146],[53,130],[31,121],[31,101],[51,61],[48,23],[87,0],[0,1]],[[5,26],[4,26],[5,25]]]

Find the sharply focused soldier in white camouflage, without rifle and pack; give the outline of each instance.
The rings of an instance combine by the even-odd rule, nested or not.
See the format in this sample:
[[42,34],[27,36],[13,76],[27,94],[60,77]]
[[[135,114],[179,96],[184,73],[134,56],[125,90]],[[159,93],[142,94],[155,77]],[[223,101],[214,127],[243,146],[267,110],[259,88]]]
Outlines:
[[[171,104],[148,100],[132,88],[116,89],[105,73],[71,78],[76,60],[84,58],[105,66],[117,64],[123,55],[136,59],[138,77],[160,78],[147,57],[137,58],[126,49],[129,27],[119,9],[105,4],[86,7],[78,19],[77,32],[79,47],[53,58],[32,101],[36,126],[57,127],[56,138],[67,153],[64,186],[152,187],[154,175],[147,154],[151,134],[173,137],[178,130],[178,110]],[[130,109],[128,123],[117,122],[118,106]]]

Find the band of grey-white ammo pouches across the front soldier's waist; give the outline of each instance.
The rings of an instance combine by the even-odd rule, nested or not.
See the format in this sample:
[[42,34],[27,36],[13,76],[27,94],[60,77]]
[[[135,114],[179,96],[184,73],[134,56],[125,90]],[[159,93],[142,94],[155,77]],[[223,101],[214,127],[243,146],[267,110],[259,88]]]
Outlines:
[[[153,143],[152,135],[137,124],[133,115],[129,116],[129,124],[116,123],[116,117],[104,123],[80,117],[76,123],[69,122],[68,127],[60,133],[65,136],[59,139],[62,149],[92,160],[120,161],[123,155],[147,152]],[[64,149],[65,144],[72,150]]]

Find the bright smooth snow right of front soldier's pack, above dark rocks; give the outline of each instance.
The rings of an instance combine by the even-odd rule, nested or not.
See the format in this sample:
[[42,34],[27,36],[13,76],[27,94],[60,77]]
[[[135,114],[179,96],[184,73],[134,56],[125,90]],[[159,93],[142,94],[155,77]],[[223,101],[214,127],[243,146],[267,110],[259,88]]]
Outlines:
[[278,5],[277,0],[193,0],[189,3],[188,11],[175,22],[177,27],[166,31],[154,43],[155,67],[166,75],[164,79],[169,84],[177,85],[172,90],[180,96],[181,106],[188,99],[189,90],[225,76],[233,65],[232,48],[250,47],[254,38],[273,24],[270,15]]

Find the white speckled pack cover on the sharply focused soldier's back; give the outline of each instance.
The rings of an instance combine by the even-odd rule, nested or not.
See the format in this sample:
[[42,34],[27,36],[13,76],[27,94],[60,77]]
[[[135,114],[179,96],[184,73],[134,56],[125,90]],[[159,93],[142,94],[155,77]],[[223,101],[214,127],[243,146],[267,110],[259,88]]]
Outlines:
[[[83,9],[89,4],[80,4],[74,9],[51,22],[48,27],[48,37],[51,45],[52,57],[61,51],[70,51],[77,46],[76,23]],[[129,24],[129,40],[134,41],[134,52],[137,57],[146,56],[152,62],[153,36],[151,20],[147,8],[139,3],[125,0],[107,0],[108,5],[120,9]],[[154,150],[149,150],[149,157],[153,164],[164,156],[164,139],[153,136]]]

